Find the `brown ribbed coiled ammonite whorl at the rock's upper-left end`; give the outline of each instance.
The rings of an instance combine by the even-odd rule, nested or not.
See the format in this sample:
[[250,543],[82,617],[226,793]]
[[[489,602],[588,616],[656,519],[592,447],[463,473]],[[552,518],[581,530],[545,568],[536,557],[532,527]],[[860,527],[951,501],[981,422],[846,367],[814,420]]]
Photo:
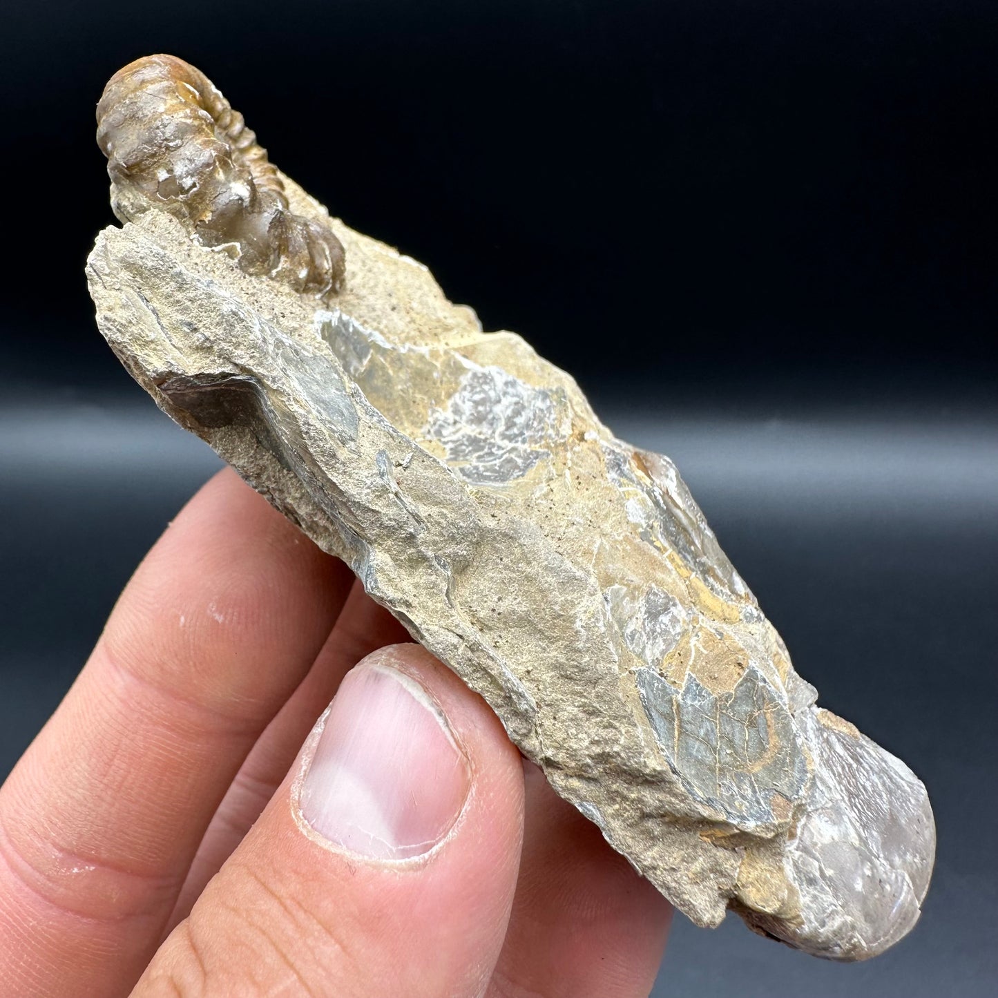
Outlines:
[[339,290],[339,240],[289,210],[266,150],[200,70],[167,55],[130,63],[104,88],[97,125],[122,221],[158,208],[203,246],[231,247],[247,273]]

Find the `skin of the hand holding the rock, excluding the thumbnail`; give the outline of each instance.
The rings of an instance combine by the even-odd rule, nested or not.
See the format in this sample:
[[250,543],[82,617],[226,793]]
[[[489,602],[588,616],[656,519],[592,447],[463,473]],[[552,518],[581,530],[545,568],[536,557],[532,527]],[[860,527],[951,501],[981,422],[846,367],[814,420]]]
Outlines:
[[[213,478],[0,787],[0,996],[647,995],[668,902],[404,642],[341,562]],[[317,841],[295,780],[344,676],[385,656],[471,786],[400,861]]]

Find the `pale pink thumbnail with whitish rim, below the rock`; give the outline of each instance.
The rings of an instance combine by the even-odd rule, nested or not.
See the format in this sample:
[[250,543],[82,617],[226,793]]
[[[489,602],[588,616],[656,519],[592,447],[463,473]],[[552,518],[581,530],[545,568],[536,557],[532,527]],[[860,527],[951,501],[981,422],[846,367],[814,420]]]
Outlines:
[[319,835],[375,859],[428,852],[457,820],[471,772],[440,708],[382,664],[347,674],[298,798]]

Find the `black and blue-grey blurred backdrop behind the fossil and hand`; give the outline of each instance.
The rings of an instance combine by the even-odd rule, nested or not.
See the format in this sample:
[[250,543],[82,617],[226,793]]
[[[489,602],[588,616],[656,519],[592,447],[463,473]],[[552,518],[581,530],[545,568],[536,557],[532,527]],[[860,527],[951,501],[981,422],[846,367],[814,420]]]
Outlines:
[[94,107],[157,51],[671,454],[822,703],[925,778],[911,936],[838,966],[680,918],[656,995],[990,994],[994,0],[4,0],[0,775],[215,466],[83,277],[113,221]]

